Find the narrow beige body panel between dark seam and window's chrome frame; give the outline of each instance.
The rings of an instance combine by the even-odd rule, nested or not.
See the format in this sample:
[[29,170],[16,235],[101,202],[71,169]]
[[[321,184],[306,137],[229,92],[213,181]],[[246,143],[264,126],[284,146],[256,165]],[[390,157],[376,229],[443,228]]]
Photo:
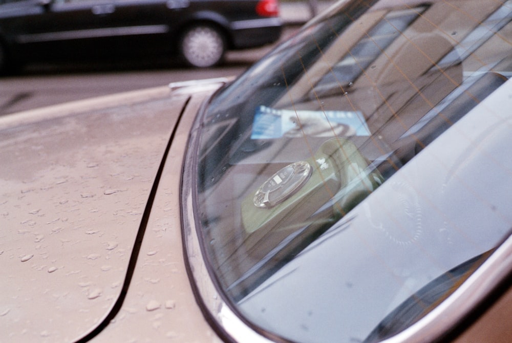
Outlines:
[[165,161],[131,286],[117,316],[91,341],[221,341],[204,319],[190,287],[180,229],[179,192],[191,124],[202,101],[218,87],[188,88],[195,94]]

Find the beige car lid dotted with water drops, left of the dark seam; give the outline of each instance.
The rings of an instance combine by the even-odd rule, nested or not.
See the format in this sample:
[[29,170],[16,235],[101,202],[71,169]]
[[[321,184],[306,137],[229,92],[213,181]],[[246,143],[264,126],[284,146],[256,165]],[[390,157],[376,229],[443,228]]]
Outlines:
[[190,97],[163,87],[0,119],[4,338],[74,341],[108,318]]

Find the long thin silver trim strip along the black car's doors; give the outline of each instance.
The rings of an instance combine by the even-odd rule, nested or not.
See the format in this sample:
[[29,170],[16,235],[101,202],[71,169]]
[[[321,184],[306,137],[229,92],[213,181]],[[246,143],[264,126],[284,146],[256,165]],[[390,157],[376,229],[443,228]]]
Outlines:
[[43,42],[43,41],[59,41],[68,39],[83,38],[99,38],[111,36],[128,36],[128,35],[145,35],[169,32],[167,25],[146,25],[146,26],[129,26],[117,28],[76,30],[62,32],[48,32],[37,34],[20,35],[16,38],[19,44]]

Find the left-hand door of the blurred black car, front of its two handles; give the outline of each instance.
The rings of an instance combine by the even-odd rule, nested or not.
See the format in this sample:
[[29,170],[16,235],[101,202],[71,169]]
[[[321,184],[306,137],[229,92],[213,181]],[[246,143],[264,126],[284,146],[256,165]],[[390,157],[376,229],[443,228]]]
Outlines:
[[10,5],[0,17],[0,28],[21,59],[82,59],[110,51],[111,0],[22,0]]

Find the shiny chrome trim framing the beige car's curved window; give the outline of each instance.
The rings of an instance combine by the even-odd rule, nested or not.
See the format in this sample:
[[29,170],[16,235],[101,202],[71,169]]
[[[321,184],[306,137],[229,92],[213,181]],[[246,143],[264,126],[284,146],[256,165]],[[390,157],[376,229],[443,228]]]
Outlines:
[[[206,257],[198,237],[198,227],[194,213],[193,192],[196,190],[195,173],[191,167],[197,162],[196,147],[199,143],[201,118],[196,120],[191,130],[189,149],[185,156],[182,179],[182,221],[183,241],[186,260],[190,269],[191,282],[195,283],[198,303],[214,319],[220,330],[236,341],[265,342],[286,341],[257,327],[251,326],[237,316],[238,311],[225,301],[218,292],[214,279],[208,272]],[[196,164],[197,165],[197,164]],[[190,173],[192,170],[192,173]],[[461,321],[477,308],[489,293],[492,293],[506,276],[512,273],[512,235],[510,232],[504,242],[455,292],[447,297],[430,313],[417,323],[397,335],[383,340],[385,343],[428,343],[449,334]],[[250,336],[249,336],[250,335]],[[248,339],[250,337],[250,339]]]

